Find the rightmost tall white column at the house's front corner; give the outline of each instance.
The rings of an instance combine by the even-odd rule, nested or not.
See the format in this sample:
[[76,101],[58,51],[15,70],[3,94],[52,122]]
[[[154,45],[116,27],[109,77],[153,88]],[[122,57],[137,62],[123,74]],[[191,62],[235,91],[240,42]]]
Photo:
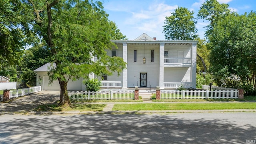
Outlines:
[[196,44],[197,43],[192,43],[192,52],[191,52],[192,66],[191,66],[190,80],[192,82],[192,88],[196,88]]

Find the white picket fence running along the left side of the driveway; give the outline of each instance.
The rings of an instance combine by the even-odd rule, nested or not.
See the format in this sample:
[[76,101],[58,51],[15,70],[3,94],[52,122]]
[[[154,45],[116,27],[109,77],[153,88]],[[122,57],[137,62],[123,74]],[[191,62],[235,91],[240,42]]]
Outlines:
[[[9,98],[18,98],[20,96],[29,95],[39,91],[41,91],[41,86],[10,90]],[[3,95],[0,95],[0,101],[3,101]]]

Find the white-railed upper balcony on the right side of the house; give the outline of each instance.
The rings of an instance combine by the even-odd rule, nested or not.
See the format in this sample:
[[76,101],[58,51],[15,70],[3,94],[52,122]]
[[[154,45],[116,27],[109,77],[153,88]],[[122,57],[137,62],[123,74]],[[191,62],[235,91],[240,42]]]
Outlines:
[[192,58],[164,58],[165,67],[190,67]]

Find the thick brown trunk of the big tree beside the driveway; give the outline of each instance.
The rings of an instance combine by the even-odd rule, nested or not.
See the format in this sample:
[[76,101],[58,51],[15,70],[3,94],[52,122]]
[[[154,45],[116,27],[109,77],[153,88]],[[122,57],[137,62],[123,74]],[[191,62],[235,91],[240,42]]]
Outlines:
[[58,104],[59,106],[63,106],[63,105],[68,105],[71,106],[71,102],[70,102],[70,98],[68,96],[68,82],[60,80],[60,78],[58,78],[59,80],[59,84],[60,84],[60,103]]

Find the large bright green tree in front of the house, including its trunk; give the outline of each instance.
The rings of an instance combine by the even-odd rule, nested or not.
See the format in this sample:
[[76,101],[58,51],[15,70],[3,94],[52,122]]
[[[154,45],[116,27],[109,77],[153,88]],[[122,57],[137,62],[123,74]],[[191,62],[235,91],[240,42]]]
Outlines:
[[[28,0],[34,16],[33,30],[51,50],[52,67],[48,72],[51,82],[60,84],[59,105],[70,105],[67,84],[70,80],[87,77],[88,74],[118,74],[126,68],[120,57],[107,56],[105,49],[114,31],[101,2],[52,0]],[[98,61],[94,62],[93,57]]]

